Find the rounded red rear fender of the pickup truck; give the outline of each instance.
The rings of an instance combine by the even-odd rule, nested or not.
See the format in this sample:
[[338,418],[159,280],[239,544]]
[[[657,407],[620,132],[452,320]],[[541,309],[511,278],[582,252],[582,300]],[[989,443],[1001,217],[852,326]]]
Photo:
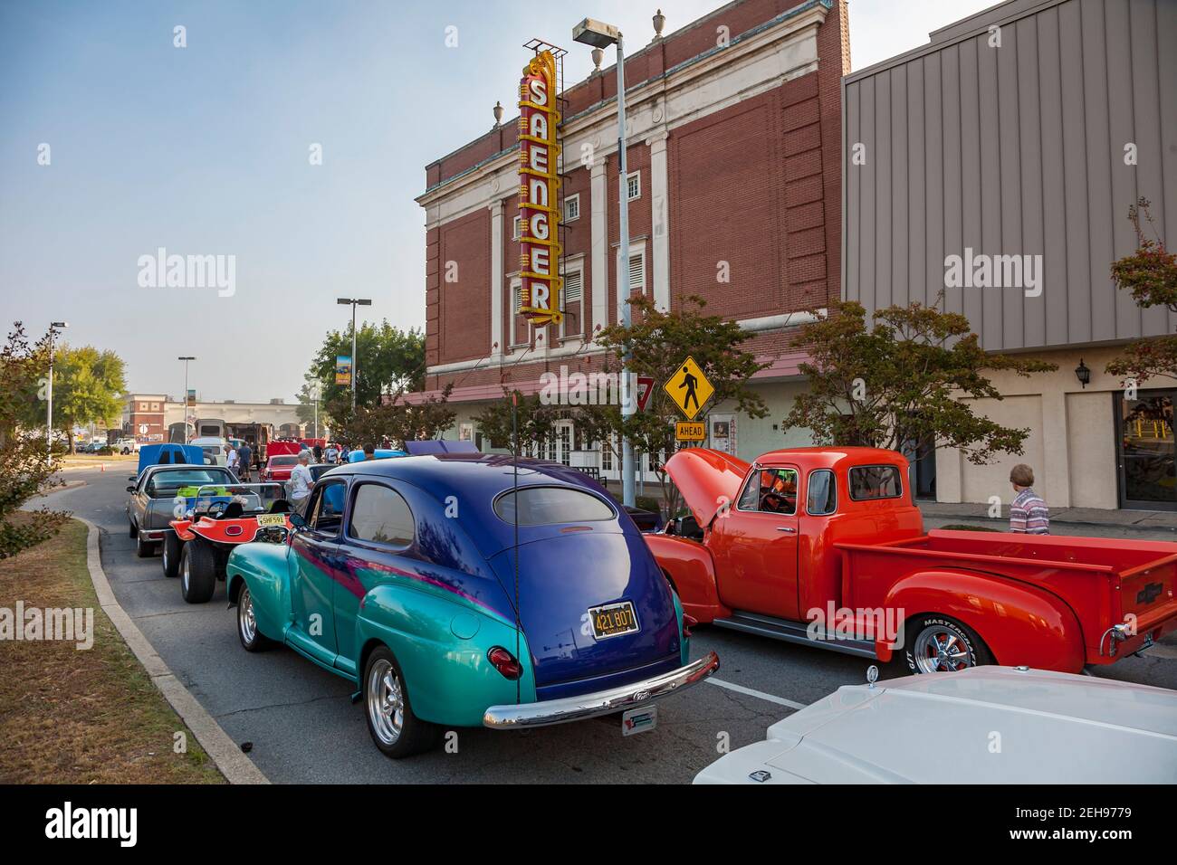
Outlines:
[[[891,586],[884,606],[902,608],[909,621],[920,613],[957,619],[980,637],[996,663],[1005,666],[1032,664],[1078,673],[1086,658],[1079,620],[1062,598],[999,574],[917,571]],[[904,631],[905,640],[915,639]],[[876,647],[880,660],[890,660],[889,644],[878,641]],[[896,650],[903,651],[900,646]]]

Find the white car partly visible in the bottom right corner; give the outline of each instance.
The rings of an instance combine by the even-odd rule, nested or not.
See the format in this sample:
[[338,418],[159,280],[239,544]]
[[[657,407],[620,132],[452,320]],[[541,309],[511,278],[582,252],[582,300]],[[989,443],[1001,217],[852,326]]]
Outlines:
[[1177,691],[990,666],[844,685],[694,783],[1113,789],[1125,766],[1132,784],[1177,778]]

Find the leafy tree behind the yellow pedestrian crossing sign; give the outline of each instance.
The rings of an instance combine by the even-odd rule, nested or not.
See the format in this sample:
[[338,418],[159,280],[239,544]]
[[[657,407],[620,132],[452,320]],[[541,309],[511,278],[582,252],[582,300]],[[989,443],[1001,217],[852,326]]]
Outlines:
[[665,463],[679,446],[674,422],[685,418],[663,384],[678,372],[683,361],[687,357],[694,358],[714,387],[711,406],[731,401],[739,413],[750,418],[769,414],[764,399],[749,386],[751,378],[769,366],[742,347],[752,334],[736,321],[707,314],[706,305],[699,295],[687,294],[680,295],[670,311],[663,311],[649,297],[633,297],[630,300],[630,327],[610,325],[596,337],[607,352],[610,370],[620,370],[621,358],[629,347],[631,373],[647,375],[654,381],[645,411],[629,418],[617,411],[601,412],[601,415],[603,420],[612,419],[618,439],[624,437],[636,452],[650,454],[663,501],[670,513],[679,511],[681,500],[670,481]]

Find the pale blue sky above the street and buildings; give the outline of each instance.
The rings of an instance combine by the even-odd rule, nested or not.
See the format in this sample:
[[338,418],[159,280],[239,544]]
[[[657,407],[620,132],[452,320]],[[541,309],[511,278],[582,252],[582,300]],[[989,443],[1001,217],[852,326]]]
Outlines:
[[[851,0],[853,66],[989,5]],[[577,81],[592,66],[571,41],[580,18],[634,51],[656,6],[0,0],[0,318],[69,321],[67,341],[119,352],[135,391],[179,394],[175,357],[193,354],[204,399],[293,400],[347,321],[335,297],[424,325],[424,167],[488,129],[496,100],[513,117],[521,44],[570,47]],[[665,32],[718,6],[663,2]],[[140,287],[158,247],[235,255],[235,294]]]

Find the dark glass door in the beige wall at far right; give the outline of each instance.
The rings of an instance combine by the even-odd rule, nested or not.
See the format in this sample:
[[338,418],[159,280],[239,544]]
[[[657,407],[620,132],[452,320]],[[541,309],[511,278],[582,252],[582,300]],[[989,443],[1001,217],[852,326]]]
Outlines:
[[1121,507],[1177,510],[1175,397],[1177,391],[1144,391],[1137,399],[1116,397]]

